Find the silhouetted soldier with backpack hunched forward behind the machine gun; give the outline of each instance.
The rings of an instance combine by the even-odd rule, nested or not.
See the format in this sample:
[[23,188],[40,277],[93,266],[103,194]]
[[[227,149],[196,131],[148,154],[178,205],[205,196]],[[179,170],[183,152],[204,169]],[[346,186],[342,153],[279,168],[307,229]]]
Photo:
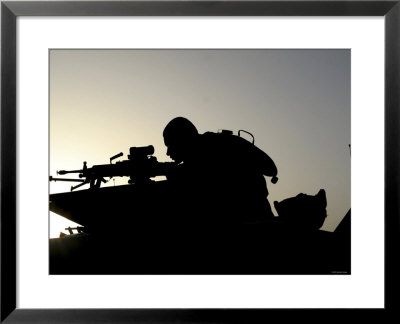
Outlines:
[[[199,134],[186,118],[165,127],[167,155],[178,165],[167,176],[178,188],[187,217],[209,221],[258,221],[273,217],[265,176],[277,180],[272,159],[239,136]],[[185,212],[185,211],[183,211]]]

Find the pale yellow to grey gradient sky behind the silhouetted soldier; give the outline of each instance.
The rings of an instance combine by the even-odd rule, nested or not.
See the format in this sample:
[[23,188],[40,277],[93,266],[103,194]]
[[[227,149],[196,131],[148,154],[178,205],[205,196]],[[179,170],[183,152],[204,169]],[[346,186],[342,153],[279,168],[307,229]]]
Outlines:
[[[183,116],[200,133],[254,135],[278,168],[278,183],[266,178],[272,208],[325,189],[327,231],[350,209],[350,50],[54,49],[49,57],[50,175],[120,152],[127,159],[132,146],[151,144],[158,161],[171,161],[162,131]],[[51,182],[50,193],[71,184]],[[51,237],[69,225],[50,213]]]

